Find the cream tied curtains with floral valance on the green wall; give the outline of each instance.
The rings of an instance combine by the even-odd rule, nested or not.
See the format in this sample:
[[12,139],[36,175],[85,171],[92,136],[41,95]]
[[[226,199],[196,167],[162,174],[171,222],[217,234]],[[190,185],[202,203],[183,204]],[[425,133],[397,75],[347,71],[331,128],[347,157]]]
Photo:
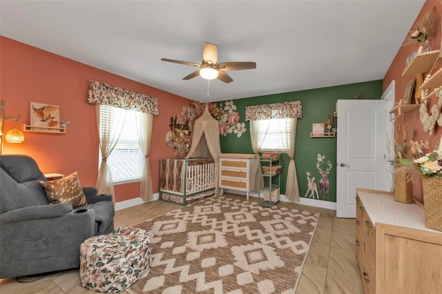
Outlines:
[[[262,141],[259,142],[256,137],[258,137],[258,130],[256,129],[256,121],[263,119],[291,119],[291,128],[287,131],[290,132],[290,140],[288,146],[284,146],[285,152],[289,155],[289,167],[287,168],[287,181],[285,188],[285,196],[292,202],[299,202],[299,188],[298,188],[298,178],[296,177],[296,166],[295,166],[295,138],[296,138],[296,124],[298,118],[302,117],[302,105],[300,101],[289,101],[277,104],[263,104],[256,106],[246,107],[246,121],[250,121],[250,137],[253,152],[255,153],[255,166],[260,168],[259,161],[259,150],[262,146]],[[283,130],[286,131],[286,130]],[[267,132],[266,132],[267,133]],[[286,144],[285,144],[286,145]],[[255,173],[258,177],[258,170]]]

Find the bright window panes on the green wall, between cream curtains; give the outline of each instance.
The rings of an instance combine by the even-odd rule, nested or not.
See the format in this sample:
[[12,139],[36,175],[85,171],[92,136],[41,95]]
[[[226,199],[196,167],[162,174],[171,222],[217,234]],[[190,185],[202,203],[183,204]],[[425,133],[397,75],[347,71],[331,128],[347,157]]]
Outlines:
[[290,146],[292,119],[261,119],[258,122],[258,141],[261,151],[282,151]]

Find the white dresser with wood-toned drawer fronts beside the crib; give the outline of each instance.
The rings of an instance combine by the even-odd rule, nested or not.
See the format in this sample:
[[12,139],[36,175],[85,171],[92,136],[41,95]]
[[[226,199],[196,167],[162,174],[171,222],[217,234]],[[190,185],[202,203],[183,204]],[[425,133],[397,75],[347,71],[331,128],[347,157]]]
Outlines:
[[252,176],[254,158],[255,155],[253,154],[220,154],[220,172],[218,177],[221,195],[225,188],[245,192],[247,199],[249,199],[249,192],[251,192],[256,182]]

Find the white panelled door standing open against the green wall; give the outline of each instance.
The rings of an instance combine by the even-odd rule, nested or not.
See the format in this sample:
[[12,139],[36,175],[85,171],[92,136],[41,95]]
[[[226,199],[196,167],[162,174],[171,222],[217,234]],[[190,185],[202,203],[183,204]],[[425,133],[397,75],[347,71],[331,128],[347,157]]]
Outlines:
[[338,100],[336,217],[356,217],[356,188],[385,190],[383,100]]

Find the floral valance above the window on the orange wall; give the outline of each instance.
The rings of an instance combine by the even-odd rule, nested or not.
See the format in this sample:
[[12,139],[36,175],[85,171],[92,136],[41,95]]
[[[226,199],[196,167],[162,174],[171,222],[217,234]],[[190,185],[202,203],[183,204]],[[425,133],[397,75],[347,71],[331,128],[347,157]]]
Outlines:
[[158,115],[158,101],[156,98],[100,83],[99,81],[89,81],[88,103],[111,105]]

